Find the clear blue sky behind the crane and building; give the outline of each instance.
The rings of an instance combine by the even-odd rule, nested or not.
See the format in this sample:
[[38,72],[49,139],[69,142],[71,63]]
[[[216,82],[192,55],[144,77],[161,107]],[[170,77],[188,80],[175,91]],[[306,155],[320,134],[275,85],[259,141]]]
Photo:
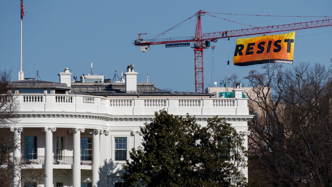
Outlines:
[[[332,1],[110,1],[110,0],[25,0],[23,19],[23,71],[25,78],[37,70],[45,81],[58,82],[57,74],[68,67],[73,76],[88,74],[90,61],[96,74],[113,78],[128,64],[139,73],[138,82],[155,83],[157,88],[195,91],[194,52],[190,47],[165,48],[151,45],[147,53],[131,44],[138,33],[161,33],[200,9],[207,12],[261,15],[332,16]],[[324,18],[254,17],[219,15],[253,26],[269,26],[322,20]],[[326,18],[325,18],[326,19]],[[160,38],[193,36],[195,21]],[[18,80],[20,70],[20,0],[0,2],[1,70],[12,70]],[[209,16],[202,17],[203,33],[245,29],[248,26]],[[311,36],[306,36],[311,35]],[[299,61],[329,66],[332,58],[332,27],[295,32],[294,65]],[[238,67],[232,64],[236,38],[218,40],[214,49],[212,82],[236,73],[240,78],[261,65]],[[227,50],[228,48],[228,50]],[[227,66],[227,60],[231,63]],[[292,65],[285,65],[291,67]],[[205,87],[213,72],[212,49],[204,51]],[[119,75],[120,76],[120,75]]]

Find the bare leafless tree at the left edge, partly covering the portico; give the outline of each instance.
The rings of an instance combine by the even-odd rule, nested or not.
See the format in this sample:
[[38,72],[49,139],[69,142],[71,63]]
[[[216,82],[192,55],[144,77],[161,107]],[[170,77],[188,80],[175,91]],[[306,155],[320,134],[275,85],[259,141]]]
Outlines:
[[[0,186],[10,186],[14,176],[14,157],[11,155],[14,149],[21,149],[24,142],[17,144],[14,133],[9,126],[18,121],[18,104],[12,88],[10,86],[10,71],[0,71]],[[31,165],[21,163],[20,158],[16,158],[16,167],[21,170],[21,178],[26,182],[42,181],[43,169],[33,169]]]

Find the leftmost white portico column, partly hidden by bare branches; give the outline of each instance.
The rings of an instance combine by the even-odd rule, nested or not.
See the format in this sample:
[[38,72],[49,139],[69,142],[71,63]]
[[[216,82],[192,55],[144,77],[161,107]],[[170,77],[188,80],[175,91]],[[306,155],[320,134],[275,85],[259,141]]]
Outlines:
[[10,128],[10,131],[14,132],[13,138],[15,142],[14,149],[14,176],[13,176],[13,187],[21,187],[21,132],[22,127]]

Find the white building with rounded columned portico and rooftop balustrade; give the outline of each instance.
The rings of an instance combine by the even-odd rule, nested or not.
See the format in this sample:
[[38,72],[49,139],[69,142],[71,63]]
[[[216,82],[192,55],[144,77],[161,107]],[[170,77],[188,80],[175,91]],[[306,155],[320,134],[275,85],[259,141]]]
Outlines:
[[[72,81],[67,68],[58,74],[59,83],[10,83],[19,104],[19,121],[11,130],[19,137],[17,143],[22,142],[13,157],[44,168],[46,174],[44,181],[29,184],[15,175],[15,187],[121,187],[128,152],[141,144],[139,127],[163,108],[174,115],[195,115],[202,126],[207,118],[225,117],[237,131],[248,133],[252,115],[241,88],[233,90],[234,98],[163,91],[153,83],[137,83],[133,66],[127,70],[118,83],[91,83],[86,76],[81,77],[84,83],[76,77]],[[247,136],[244,144],[247,147]],[[243,171],[247,176],[247,168]]]

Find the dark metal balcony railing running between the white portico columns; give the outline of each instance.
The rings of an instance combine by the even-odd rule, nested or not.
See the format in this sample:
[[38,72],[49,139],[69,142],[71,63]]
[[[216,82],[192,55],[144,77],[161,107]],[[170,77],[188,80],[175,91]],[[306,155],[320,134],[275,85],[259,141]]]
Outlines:
[[[13,162],[13,157],[11,156],[8,159],[8,162]],[[21,156],[22,164],[45,164],[45,156]],[[53,156],[53,164],[67,164],[73,165],[73,157],[72,156]],[[92,165],[91,157],[81,157],[81,165]]]

